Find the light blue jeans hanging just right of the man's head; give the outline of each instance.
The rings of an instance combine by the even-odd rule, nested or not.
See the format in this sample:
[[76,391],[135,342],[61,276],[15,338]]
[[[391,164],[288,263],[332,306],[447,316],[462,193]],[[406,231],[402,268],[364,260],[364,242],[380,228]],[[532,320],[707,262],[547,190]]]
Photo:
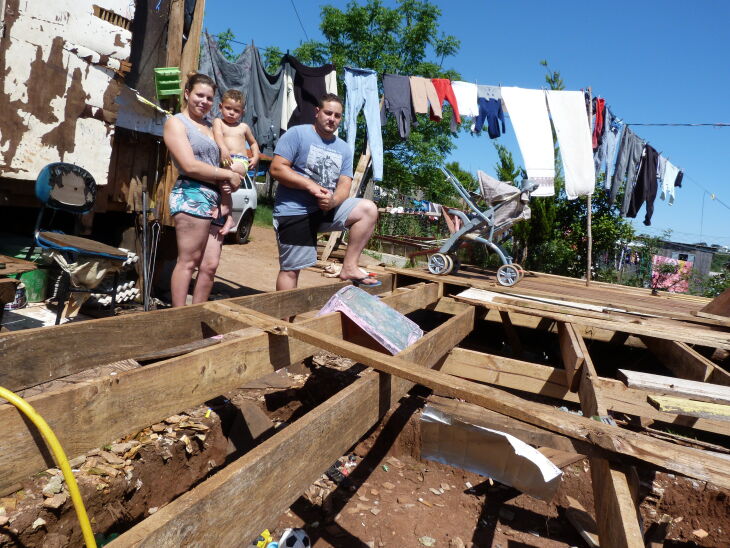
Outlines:
[[365,122],[368,127],[370,154],[373,158],[373,179],[383,180],[383,134],[378,113],[378,77],[374,70],[345,67],[345,87],[347,102],[345,104],[345,124],[347,144],[355,154],[355,137],[357,136],[357,115],[365,106]]

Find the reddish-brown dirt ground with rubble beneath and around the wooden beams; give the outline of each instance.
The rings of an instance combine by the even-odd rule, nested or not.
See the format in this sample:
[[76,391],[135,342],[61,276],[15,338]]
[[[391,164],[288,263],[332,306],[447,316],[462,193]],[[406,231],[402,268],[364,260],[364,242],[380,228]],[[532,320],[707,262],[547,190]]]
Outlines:
[[[271,291],[277,271],[273,232],[254,227],[249,244],[225,246],[213,296]],[[307,270],[300,286],[332,281]],[[102,372],[108,373],[97,374]],[[362,372],[349,360],[320,353],[74,459],[95,532],[107,540],[124,532]],[[544,502],[422,460],[419,418],[428,395],[414,389],[287,512],[262,523],[262,530],[278,538],[286,527],[304,527],[315,547],[335,548],[587,546],[566,519],[569,497],[593,513],[587,461],[565,467],[557,495]],[[672,474],[639,470],[639,475],[644,530],[663,522],[664,546],[730,546],[729,492]],[[57,476],[51,469],[0,497],[0,548],[80,545],[76,517]],[[249,540],[242,539],[241,546]]]

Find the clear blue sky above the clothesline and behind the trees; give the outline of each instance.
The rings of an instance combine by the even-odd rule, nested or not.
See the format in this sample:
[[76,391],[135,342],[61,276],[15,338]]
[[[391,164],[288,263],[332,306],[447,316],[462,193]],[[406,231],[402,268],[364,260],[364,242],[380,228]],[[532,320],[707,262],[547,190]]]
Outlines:
[[[539,62],[547,59],[567,89],[591,86],[626,122],[730,123],[728,2],[433,3],[442,11],[441,30],[461,40],[459,53],[444,66],[458,70],[465,81],[540,88],[545,69]],[[322,5],[344,9],[347,2],[294,4],[301,25],[291,0],[207,0],[204,25],[213,34],[230,27],[241,42],[294,50],[305,33],[321,38]],[[657,198],[652,226],[641,222],[642,209],[634,221],[637,230],[661,234],[671,229],[673,240],[730,246],[730,127],[633,129],[685,172],[676,203],[669,206]],[[500,140],[519,161],[509,123]],[[462,135],[449,159],[472,172],[493,173],[496,154],[486,134]]]

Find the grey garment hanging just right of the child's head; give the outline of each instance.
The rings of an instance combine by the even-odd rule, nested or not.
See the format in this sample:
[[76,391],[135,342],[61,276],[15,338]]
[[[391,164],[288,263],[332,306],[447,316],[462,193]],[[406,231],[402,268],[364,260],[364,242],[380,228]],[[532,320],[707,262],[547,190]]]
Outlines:
[[[281,123],[281,87],[284,72],[269,74],[261,61],[258,48],[253,48],[251,81],[246,96],[246,112],[243,121],[253,131],[254,137],[264,154],[274,154],[279,141]],[[225,91],[225,90],[224,90]]]

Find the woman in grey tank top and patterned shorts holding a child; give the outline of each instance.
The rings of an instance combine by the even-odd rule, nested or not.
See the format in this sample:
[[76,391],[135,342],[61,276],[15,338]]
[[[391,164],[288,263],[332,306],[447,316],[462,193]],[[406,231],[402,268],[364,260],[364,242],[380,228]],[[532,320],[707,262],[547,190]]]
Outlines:
[[223,245],[219,227],[212,225],[219,216],[220,191],[233,192],[241,184],[241,175],[218,167],[220,150],[206,119],[215,88],[208,76],[191,73],[182,112],[165,122],[165,145],[180,171],[169,199],[178,249],[170,282],[172,306],[185,305],[196,268],[193,303],[208,300]]

